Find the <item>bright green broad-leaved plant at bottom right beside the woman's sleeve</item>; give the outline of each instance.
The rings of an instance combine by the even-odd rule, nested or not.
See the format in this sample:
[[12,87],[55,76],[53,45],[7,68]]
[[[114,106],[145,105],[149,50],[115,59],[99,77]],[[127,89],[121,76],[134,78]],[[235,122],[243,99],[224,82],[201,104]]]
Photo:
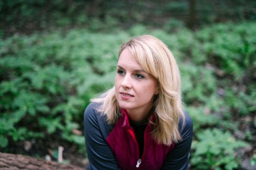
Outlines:
[[229,131],[206,129],[196,133],[198,141],[193,141],[192,149],[196,149],[191,164],[195,169],[217,169],[225,165],[226,170],[238,168],[239,159],[234,156],[234,149],[246,147],[247,143],[236,140]]

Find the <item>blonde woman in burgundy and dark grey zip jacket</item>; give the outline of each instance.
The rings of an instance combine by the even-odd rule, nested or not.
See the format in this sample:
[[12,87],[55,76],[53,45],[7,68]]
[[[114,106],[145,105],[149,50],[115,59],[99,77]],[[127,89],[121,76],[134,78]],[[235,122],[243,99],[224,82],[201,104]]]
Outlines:
[[183,111],[178,65],[151,35],[120,50],[115,86],[84,113],[88,169],[187,169],[193,124]]

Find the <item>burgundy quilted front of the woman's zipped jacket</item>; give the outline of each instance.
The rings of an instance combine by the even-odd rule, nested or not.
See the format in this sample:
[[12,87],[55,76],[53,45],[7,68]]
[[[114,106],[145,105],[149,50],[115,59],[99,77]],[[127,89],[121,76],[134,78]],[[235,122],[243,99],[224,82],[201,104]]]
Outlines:
[[[157,144],[150,136],[153,124],[149,123],[144,132],[144,151],[139,157],[139,145],[135,132],[130,127],[126,110],[122,109],[123,116],[117,121],[108,135],[106,141],[109,144],[116,162],[121,170],[157,170],[161,169],[167,153],[173,149],[170,146]],[[151,117],[154,122],[155,115]]]

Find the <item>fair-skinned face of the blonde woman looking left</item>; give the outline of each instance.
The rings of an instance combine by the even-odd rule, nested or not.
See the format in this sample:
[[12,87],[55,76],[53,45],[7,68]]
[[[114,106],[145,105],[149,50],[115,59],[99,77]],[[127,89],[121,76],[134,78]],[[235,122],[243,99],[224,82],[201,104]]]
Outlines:
[[132,56],[124,49],[119,56],[115,76],[115,95],[123,109],[147,111],[152,105],[154,94],[158,94],[156,80],[147,74]]

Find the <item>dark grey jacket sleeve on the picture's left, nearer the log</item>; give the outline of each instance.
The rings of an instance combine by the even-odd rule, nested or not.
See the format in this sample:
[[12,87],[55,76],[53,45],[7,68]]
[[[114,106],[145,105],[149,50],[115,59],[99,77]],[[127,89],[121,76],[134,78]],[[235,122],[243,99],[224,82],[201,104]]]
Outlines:
[[85,147],[90,163],[87,170],[118,170],[114,154],[103,137],[99,123],[103,121],[98,121],[92,104],[88,105],[84,112]]

